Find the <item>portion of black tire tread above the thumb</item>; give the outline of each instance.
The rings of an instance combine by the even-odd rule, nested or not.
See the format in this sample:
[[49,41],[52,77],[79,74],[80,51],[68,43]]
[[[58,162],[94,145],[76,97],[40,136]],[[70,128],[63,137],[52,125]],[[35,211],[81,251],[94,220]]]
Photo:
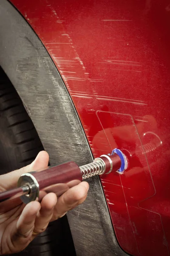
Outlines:
[[0,174],[31,163],[43,150],[14,86],[0,68]]

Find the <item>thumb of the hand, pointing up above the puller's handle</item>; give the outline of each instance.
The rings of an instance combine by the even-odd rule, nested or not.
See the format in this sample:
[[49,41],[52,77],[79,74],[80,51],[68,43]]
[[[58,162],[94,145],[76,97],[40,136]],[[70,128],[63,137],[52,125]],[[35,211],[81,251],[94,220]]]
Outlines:
[[26,172],[32,171],[41,171],[48,167],[49,155],[46,151],[40,151],[37,154],[35,160],[19,170],[15,170],[13,172],[9,172],[7,174],[0,176],[0,185],[3,186],[4,189],[12,189],[17,186],[17,181],[19,177]]

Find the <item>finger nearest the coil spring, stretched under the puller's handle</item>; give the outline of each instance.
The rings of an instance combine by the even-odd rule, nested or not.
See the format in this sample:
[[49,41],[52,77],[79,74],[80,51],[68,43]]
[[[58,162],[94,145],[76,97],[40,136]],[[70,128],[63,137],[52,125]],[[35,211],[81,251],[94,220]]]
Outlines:
[[88,189],[89,184],[86,181],[83,181],[79,183],[79,185],[72,187],[61,195],[57,200],[56,206],[54,207],[54,214],[51,221],[62,217],[70,209],[73,209],[85,201]]

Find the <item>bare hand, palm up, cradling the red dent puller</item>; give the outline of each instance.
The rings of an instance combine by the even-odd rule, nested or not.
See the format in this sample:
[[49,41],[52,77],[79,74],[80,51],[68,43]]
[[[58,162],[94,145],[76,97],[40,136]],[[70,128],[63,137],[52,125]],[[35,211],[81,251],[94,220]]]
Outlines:
[[[28,166],[0,176],[0,192],[17,186],[21,174],[46,169],[49,156],[41,151]],[[59,198],[53,192],[46,194],[41,202],[33,201],[25,205],[20,198],[0,204],[0,255],[17,253],[42,233],[50,221],[61,218],[65,213],[77,207],[87,197],[89,185],[83,181],[68,189]]]

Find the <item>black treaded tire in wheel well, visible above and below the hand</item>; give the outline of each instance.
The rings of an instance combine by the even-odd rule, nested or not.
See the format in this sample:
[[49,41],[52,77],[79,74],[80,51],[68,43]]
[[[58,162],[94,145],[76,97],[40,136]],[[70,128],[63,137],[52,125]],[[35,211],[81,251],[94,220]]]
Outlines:
[[[28,165],[41,150],[42,143],[23,102],[0,67],[0,175]],[[67,217],[51,222],[23,252],[14,255],[75,255]]]

